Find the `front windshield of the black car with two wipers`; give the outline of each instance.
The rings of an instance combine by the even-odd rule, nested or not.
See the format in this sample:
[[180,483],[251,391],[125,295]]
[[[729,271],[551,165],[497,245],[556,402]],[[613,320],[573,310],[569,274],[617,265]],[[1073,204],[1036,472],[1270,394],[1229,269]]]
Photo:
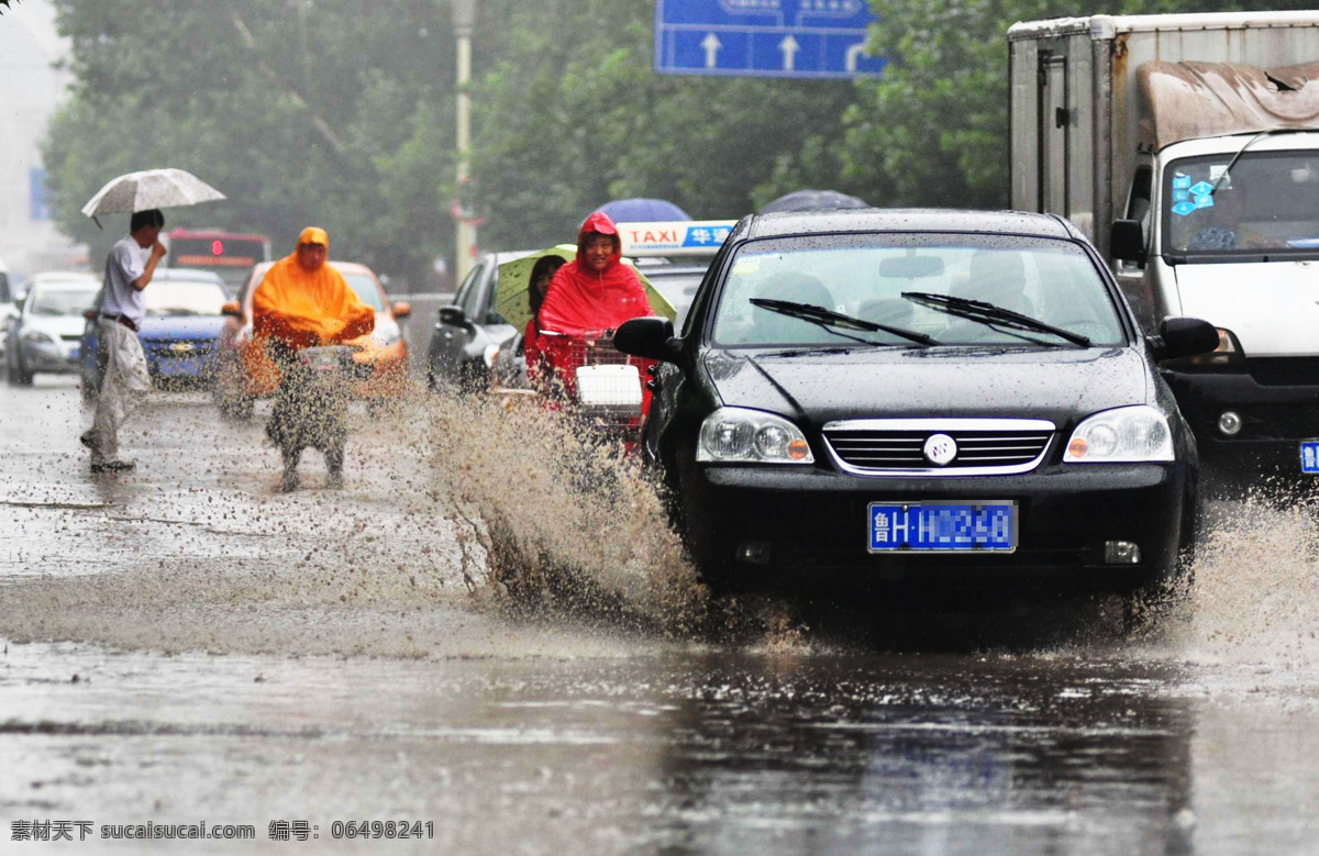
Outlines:
[[1078,244],[979,233],[749,241],[729,268],[714,339],[723,347],[1076,347],[1084,340],[1126,340],[1103,276]]

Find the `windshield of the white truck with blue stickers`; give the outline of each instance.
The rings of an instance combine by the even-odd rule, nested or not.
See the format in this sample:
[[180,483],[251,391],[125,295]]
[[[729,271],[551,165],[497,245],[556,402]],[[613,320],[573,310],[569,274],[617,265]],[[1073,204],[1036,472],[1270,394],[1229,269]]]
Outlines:
[[1233,154],[1167,165],[1163,253],[1192,261],[1319,252],[1319,152],[1245,152],[1224,177]]

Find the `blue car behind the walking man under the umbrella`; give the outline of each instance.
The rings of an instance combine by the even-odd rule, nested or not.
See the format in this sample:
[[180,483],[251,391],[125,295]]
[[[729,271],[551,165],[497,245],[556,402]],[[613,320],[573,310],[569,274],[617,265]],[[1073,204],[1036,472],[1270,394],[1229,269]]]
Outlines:
[[[208,270],[157,268],[146,295],[146,318],[137,336],[157,388],[207,389],[215,382],[215,353],[224,326],[224,281]],[[103,294],[87,314],[82,338],[82,389],[90,401],[100,390],[106,360],[96,347],[96,315]]]

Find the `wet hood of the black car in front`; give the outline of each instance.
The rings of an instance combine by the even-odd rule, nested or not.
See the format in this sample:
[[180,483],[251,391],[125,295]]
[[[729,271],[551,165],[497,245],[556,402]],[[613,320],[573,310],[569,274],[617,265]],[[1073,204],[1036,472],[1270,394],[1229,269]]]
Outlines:
[[834,419],[1042,418],[1063,426],[1151,398],[1136,348],[712,351],[704,368],[724,405]]

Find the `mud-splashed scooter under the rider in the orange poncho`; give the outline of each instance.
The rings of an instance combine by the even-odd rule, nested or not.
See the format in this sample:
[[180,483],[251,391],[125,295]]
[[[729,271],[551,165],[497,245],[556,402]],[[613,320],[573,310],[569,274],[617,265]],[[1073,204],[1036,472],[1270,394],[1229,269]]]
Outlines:
[[266,433],[284,458],[282,489],[301,485],[298,463],[317,448],[330,470],[327,487],[343,487],[343,454],[348,442],[348,388],[356,364],[348,346],[302,348],[282,360],[284,379]]

